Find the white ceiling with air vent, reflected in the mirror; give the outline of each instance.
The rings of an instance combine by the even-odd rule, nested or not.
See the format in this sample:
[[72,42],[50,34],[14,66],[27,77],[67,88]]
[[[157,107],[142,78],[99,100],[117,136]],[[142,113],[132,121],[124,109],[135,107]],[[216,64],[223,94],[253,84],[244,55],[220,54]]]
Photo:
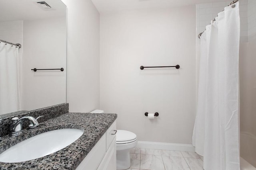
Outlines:
[[[52,7],[43,10],[36,2],[45,1]],[[66,16],[66,6],[61,0],[0,0],[0,22],[38,20]]]

